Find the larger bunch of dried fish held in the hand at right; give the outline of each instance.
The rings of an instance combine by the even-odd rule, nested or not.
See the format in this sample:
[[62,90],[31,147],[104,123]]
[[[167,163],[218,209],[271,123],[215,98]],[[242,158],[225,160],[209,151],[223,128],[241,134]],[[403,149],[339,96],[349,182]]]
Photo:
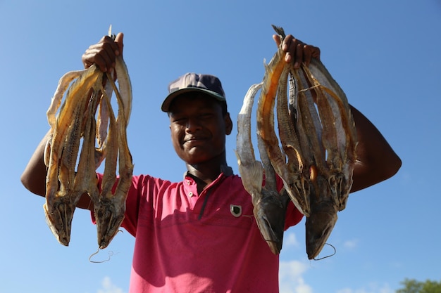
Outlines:
[[[282,28],[274,28],[284,39]],[[284,56],[279,47],[266,65],[263,82],[251,86],[244,98],[237,119],[237,159],[256,222],[271,251],[278,254],[282,248],[285,223],[280,217],[285,217],[289,196],[306,216],[306,253],[314,259],[335,226],[337,211],[346,206],[356,159],[356,129],[344,92],[323,64],[313,59],[309,67],[303,64],[294,70]],[[251,108],[259,89],[256,124],[263,164],[254,157],[250,135]],[[275,174],[283,182],[280,192]],[[261,187],[263,176],[266,183]],[[272,204],[260,204],[263,200]]]

